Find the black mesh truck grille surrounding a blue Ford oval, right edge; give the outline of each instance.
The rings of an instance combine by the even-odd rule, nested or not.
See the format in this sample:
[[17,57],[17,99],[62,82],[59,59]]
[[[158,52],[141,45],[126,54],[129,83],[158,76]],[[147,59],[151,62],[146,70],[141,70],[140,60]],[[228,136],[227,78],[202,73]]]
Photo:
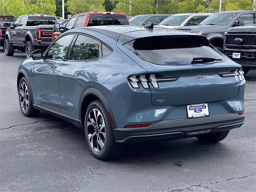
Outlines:
[[[241,43],[234,42],[235,38],[241,38],[243,41]],[[238,35],[228,35],[226,39],[227,45],[255,45],[256,44],[256,36],[254,35],[246,35],[246,36],[238,36]]]

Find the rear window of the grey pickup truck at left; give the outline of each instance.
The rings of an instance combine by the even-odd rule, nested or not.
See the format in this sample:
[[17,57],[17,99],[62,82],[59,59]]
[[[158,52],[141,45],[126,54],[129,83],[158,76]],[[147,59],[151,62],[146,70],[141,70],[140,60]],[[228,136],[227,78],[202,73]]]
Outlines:
[[30,16],[26,26],[38,26],[38,25],[54,25],[57,22],[55,17],[48,16]]

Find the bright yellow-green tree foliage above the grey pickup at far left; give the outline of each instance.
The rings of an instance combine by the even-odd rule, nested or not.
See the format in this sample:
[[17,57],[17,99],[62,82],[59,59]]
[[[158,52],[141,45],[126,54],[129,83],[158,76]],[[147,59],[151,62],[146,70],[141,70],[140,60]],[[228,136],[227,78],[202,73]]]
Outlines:
[[1,14],[13,15],[16,18],[23,14],[55,15],[55,0],[4,0],[0,5]]

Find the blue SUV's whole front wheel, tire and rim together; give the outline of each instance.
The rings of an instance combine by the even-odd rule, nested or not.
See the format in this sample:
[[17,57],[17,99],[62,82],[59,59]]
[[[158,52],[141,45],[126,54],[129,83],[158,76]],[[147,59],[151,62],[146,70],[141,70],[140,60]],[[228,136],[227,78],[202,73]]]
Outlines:
[[31,98],[32,93],[30,92],[30,88],[25,77],[22,77],[20,80],[18,94],[19,94],[20,109],[24,114],[24,116],[27,116],[27,117],[37,116],[40,113],[40,111],[36,110],[33,107],[32,98]]

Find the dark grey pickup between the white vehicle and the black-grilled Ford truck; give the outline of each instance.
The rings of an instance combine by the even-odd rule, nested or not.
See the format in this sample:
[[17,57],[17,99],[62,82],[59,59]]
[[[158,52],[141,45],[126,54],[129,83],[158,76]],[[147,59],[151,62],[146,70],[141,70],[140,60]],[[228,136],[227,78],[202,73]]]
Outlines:
[[177,27],[178,30],[186,30],[206,36],[210,43],[223,51],[224,32],[236,26],[255,24],[256,11],[224,11],[214,13],[198,25]]

